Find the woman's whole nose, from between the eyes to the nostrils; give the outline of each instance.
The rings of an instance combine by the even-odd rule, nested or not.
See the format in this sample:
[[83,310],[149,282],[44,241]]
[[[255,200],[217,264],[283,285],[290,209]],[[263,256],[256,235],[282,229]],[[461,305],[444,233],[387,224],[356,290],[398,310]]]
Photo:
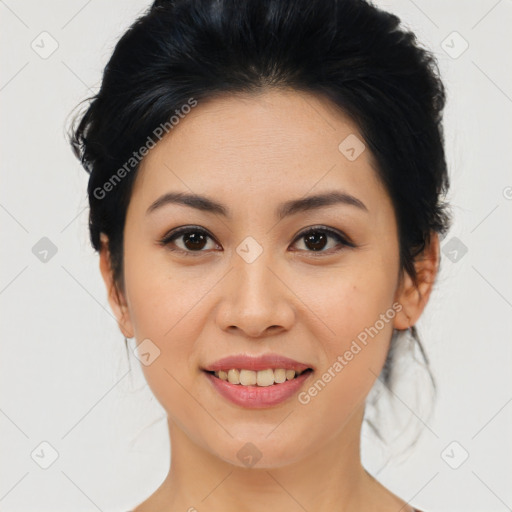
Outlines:
[[247,237],[239,244],[218,312],[221,328],[236,327],[249,336],[259,336],[269,327],[290,328],[293,307],[275,266],[272,252],[256,240]]

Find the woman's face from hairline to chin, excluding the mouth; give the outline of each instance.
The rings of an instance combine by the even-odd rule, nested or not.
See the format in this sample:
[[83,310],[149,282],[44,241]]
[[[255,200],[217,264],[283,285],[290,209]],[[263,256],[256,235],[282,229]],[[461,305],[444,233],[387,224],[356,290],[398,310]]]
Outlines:
[[[384,364],[403,316],[397,225],[361,141],[328,102],[272,91],[199,102],[141,163],[124,232],[121,326],[150,340],[142,368],[170,422],[232,464],[245,464],[248,442],[260,467],[335,442],[360,422]],[[205,196],[226,215],[150,208],[169,193]],[[342,200],[283,210],[327,193]],[[190,232],[159,243],[182,226]],[[301,236],[310,227],[316,234]],[[268,353],[313,369],[273,405],[234,403],[204,371],[226,356]]]

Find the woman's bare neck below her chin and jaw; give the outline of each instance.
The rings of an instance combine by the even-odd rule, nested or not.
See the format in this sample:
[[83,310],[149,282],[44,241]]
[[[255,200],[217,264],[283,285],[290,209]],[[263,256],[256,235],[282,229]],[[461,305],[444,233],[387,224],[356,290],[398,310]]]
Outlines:
[[297,462],[265,467],[262,459],[262,464],[251,468],[213,455],[169,418],[171,468],[158,489],[158,503],[166,511],[205,508],[211,512],[256,512],[270,507],[352,512],[373,506],[382,491],[360,461],[363,414],[364,405],[334,437]]

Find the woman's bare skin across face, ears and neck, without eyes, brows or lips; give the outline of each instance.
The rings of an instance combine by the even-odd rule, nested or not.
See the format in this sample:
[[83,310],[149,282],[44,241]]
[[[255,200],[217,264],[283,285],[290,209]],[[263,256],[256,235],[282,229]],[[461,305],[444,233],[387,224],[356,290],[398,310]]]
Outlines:
[[[349,161],[338,149],[350,134],[362,140],[350,118],[307,93],[231,95],[199,103],[142,161],[126,217],[124,287],[113,281],[105,235],[100,252],[121,331],[160,350],[142,368],[168,414],[172,464],[136,512],[412,510],[364,470],[359,442],[392,329],[414,325],[427,303],[439,241],[433,234],[418,257],[415,286],[400,271],[394,209],[370,151]],[[275,217],[280,203],[328,190],[367,211],[337,204]],[[170,191],[207,195],[232,217],[176,204],[146,214]],[[193,252],[183,236],[158,244],[183,225],[211,235],[203,252],[173,252]],[[297,238],[316,225],[356,247],[329,236],[319,255]],[[236,252],[247,236],[263,249],[252,263]],[[402,310],[307,405],[292,397],[242,408],[200,370],[234,353],[277,352],[314,366],[313,383],[396,302]],[[237,457],[248,442],[262,454],[250,468]]]

